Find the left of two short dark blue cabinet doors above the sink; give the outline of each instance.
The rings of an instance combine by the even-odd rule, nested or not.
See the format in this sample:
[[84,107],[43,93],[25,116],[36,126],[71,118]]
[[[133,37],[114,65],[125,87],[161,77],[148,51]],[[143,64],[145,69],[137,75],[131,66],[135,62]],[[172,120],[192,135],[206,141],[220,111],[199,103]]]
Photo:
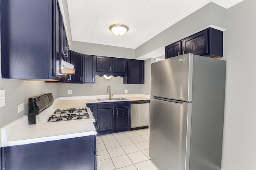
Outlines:
[[96,71],[111,72],[111,58],[96,56]]

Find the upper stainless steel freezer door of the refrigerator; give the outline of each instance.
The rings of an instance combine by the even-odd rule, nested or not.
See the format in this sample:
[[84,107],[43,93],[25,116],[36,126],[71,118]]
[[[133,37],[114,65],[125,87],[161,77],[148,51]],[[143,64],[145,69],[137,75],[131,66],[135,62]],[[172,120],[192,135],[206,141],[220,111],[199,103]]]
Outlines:
[[151,64],[151,95],[192,101],[193,54]]

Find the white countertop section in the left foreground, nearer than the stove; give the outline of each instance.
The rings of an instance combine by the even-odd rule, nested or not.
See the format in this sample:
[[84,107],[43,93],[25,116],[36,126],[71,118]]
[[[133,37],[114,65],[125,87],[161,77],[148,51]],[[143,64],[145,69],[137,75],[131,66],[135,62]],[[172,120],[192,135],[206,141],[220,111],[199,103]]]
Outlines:
[[27,115],[2,127],[0,132],[2,142],[1,147],[97,134],[91,119],[29,125]]

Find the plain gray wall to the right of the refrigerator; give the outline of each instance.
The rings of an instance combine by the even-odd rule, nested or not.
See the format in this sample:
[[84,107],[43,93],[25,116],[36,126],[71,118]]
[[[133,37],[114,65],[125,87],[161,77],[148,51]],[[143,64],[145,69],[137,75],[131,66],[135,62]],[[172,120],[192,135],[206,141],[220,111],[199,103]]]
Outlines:
[[224,31],[226,100],[222,168],[256,170],[256,1],[229,8]]

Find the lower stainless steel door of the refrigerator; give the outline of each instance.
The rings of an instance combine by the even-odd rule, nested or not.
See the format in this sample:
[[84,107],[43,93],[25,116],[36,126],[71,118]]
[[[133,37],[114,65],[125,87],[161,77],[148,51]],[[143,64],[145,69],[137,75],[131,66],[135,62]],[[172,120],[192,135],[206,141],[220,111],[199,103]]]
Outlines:
[[188,170],[192,103],[150,103],[150,158],[160,170]]

